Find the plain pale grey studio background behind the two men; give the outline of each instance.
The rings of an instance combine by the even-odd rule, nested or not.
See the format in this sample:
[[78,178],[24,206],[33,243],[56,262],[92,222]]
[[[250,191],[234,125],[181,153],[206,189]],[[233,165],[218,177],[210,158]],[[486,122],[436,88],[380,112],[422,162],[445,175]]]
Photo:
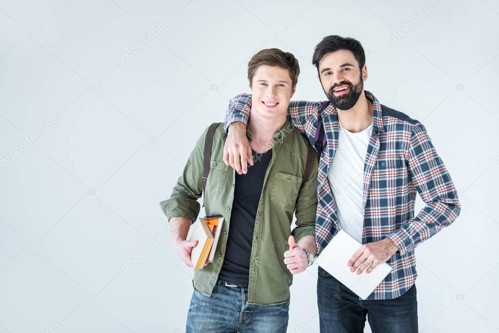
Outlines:
[[[183,332],[193,271],[158,202],[256,51],[293,52],[294,99],[323,100],[310,62],[329,34],[385,48],[366,89],[423,122],[459,188],[461,216],[417,249],[420,331],[499,331],[498,1],[1,1],[0,31],[1,333]],[[318,332],[316,270],[295,277],[289,332]]]

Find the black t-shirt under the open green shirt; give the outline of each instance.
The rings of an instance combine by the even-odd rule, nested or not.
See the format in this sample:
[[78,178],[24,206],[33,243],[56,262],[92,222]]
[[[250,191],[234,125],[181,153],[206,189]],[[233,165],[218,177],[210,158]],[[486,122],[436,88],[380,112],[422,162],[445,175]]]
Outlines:
[[251,150],[253,166],[246,174],[236,172],[229,237],[219,280],[248,287],[254,220],[263,189],[263,179],[272,159],[272,149],[263,154]]

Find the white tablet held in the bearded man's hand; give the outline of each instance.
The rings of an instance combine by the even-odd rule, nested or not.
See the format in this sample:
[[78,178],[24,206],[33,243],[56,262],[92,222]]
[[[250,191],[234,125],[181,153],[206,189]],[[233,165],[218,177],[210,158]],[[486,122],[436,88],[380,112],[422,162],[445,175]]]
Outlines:
[[361,275],[350,272],[348,260],[357,252],[362,244],[343,230],[326,245],[324,250],[315,259],[317,265],[331,274],[348,289],[365,300],[376,287],[391,272],[392,267],[387,263],[378,265],[371,273],[366,270]]

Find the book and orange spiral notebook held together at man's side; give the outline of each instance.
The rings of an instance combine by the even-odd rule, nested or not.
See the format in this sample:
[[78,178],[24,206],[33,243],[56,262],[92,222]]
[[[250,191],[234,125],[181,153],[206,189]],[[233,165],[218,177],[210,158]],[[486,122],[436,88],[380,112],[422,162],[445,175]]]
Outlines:
[[191,241],[198,241],[192,248],[191,261],[196,269],[203,269],[205,264],[213,262],[215,249],[222,230],[224,218],[222,215],[200,217],[191,226]]

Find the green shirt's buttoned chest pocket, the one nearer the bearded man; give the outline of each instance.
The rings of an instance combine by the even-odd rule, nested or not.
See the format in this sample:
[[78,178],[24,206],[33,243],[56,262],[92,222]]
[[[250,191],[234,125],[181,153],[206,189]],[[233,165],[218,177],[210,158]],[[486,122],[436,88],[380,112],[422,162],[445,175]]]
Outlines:
[[284,172],[275,172],[270,201],[280,207],[294,207],[302,177]]

